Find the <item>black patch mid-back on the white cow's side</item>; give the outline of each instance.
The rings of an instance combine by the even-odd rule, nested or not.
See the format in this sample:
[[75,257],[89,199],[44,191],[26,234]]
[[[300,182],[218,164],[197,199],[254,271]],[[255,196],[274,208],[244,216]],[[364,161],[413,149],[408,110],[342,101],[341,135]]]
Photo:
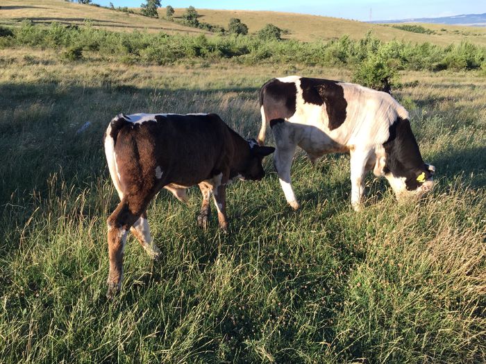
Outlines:
[[329,130],[339,128],[346,120],[348,103],[344,98],[344,89],[338,81],[321,80],[320,78],[301,78],[302,98],[304,103],[323,105],[329,119]]

